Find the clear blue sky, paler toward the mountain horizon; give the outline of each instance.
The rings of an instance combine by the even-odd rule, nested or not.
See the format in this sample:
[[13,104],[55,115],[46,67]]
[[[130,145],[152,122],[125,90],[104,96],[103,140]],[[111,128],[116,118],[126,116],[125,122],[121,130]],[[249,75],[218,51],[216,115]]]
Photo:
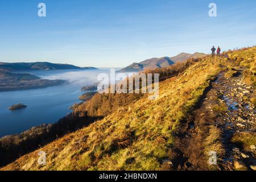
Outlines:
[[[47,16],[38,16],[46,3]],[[217,17],[208,16],[209,3]],[[256,1],[0,1],[0,61],[125,67],[151,57],[256,44]]]

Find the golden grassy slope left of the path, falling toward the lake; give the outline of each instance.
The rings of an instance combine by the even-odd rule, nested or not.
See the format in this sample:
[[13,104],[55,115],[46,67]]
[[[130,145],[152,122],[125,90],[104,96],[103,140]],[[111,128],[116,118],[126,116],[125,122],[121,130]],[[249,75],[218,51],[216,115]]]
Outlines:
[[[24,155],[2,169],[20,170],[157,170],[168,158],[173,134],[195,106],[225,58],[207,58],[182,75],[160,83],[159,98],[145,95],[75,133]],[[47,153],[39,166],[38,152]]]

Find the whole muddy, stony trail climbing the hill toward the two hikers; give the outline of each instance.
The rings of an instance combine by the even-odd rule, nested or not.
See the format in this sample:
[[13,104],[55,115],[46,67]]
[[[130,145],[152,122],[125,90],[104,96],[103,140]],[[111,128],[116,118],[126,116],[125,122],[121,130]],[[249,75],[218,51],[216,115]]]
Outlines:
[[221,142],[226,151],[214,169],[234,170],[242,165],[252,170],[255,167],[255,146],[251,146],[250,151],[243,151],[240,144],[231,142],[235,134],[255,134],[256,131],[256,108],[248,99],[254,88],[245,84],[243,69],[237,69],[236,75],[230,78],[221,72],[205,90],[191,118],[182,123],[182,129],[176,136],[178,157],[174,160],[175,169],[209,169],[209,156],[205,155],[203,143],[208,137],[210,126],[221,129]]

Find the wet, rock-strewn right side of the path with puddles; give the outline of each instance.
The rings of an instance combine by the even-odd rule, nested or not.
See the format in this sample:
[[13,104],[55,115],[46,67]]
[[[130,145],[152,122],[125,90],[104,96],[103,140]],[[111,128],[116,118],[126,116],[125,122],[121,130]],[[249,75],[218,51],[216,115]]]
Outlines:
[[226,155],[222,167],[226,170],[254,169],[250,166],[256,164],[255,146],[250,146],[250,151],[243,151],[241,144],[230,141],[234,134],[243,135],[256,131],[256,109],[248,99],[249,94],[254,92],[253,86],[245,84],[241,73],[231,78],[225,78],[220,74],[213,83],[213,91],[217,95],[215,104],[227,106],[222,113],[214,112],[214,125],[220,127],[224,133],[223,143],[226,147]]

